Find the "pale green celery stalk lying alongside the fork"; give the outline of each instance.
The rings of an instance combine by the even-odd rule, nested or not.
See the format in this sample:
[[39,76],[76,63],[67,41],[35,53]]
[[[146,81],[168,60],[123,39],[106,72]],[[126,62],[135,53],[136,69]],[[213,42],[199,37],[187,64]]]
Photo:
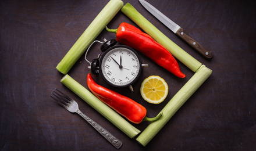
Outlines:
[[133,125],[131,125],[118,113],[112,110],[109,106],[105,105],[105,103],[101,102],[101,100],[99,100],[96,96],[94,96],[90,91],[84,88],[81,84],[79,84],[79,82],[75,81],[68,74],[62,78],[61,82],[81,99],[83,99],[86,103],[88,103],[88,105],[101,113],[102,116],[111,121],[111,123],[113,123],[130,138],[134,138],[134,136],[140,133],[140,130],[133,127]]

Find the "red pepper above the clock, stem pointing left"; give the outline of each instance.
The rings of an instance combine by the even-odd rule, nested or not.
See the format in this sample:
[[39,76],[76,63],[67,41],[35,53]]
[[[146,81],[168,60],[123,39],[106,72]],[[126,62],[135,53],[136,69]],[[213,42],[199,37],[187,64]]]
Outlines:
[[143,33],[141,30],[128,23],[121,23],[118,29],[115,30],[106,27],[106,30],[111,33],[116,33],[116,40],[118,42],[140,51],[175,76],[180,78],[186,77],[186,75],[180,71],[179,64],[172,54],[156,42],[150,35]]

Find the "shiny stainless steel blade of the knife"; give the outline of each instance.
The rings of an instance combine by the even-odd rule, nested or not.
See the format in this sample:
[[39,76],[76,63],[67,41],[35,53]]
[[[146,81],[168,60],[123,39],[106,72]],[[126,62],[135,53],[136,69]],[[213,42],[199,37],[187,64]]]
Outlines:
[[158,20],[160,20],[163,24],[165,24],[166,27],[168,27],[170,30],[173,31],[173,33],[176,34],[177,30],[179,30],[180,26],[177,25],[175,22],[170,20],[168,17],[163,15],[158,9],[156,9],[154,6],[152,6],[150,3],[144,1],[144,0],[138,0],[140,1],[141,5],[144,6],[145,9],[148,10],[153,16],[155,16]]

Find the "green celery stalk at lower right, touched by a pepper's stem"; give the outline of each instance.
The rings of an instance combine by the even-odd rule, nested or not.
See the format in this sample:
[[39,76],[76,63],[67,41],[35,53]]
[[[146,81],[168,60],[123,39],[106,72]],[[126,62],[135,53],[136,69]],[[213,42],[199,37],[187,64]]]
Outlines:
[[212,70],[204,65],[198,69],[194,76],[180,89],[179,92],[166,104],[161,110],[162,118],[148,125],[147,128],[136,139],[141,145],[146,146],[148,142],[163,128],[163,126],[172,118],[177,110],[194,94],[195,91],[204,83],[211,75]]

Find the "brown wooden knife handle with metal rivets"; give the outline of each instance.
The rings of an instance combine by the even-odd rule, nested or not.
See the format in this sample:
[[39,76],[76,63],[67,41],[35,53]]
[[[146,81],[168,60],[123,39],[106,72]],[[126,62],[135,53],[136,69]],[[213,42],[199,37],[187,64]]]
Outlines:
[[193,38],[186,35],[183,31],[183,28],[180,28],[176,34],[182,38],[187,44],[189,44],[191,47],[195,49],[195,51],[199,52],[202,56],[204,56],[207,59],[211,59],[212,56],[214,56],[214,53],[212,51],[206,51],[197,41],[195,41]]

